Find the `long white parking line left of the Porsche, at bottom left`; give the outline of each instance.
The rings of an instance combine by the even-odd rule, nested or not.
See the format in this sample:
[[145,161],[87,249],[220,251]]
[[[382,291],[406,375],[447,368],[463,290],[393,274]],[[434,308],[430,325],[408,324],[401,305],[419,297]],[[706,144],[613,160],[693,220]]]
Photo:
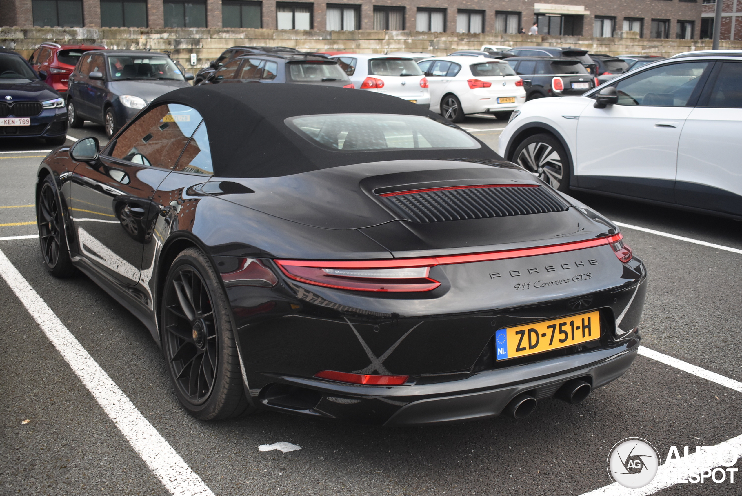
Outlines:
[[0,250],[0,275],[134,451],[174,496],[214,496]]

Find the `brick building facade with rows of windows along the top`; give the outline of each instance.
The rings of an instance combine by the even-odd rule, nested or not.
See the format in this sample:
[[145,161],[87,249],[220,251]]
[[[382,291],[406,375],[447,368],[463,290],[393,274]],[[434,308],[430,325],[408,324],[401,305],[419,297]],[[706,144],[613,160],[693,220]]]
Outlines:
[[[457,0],[451,5],[447,0],[0,0],[0,26],[518,33],[538,22],[539,34],[613,36],[614,31],[636,30],[641,38],[698,39],[702,14],[713,16],[708,1],[585,0],[577,5]],[[729,27],[722,27],[723,33],[742,36],[742,0],[724,1],[729,16],[723,23]],[[737,10],[739,18],[734,16]]]

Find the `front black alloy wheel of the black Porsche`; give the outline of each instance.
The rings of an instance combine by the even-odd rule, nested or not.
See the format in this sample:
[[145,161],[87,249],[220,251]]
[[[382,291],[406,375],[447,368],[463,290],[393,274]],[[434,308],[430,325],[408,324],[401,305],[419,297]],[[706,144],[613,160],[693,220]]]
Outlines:
[[62,206],[56,196],[56,186],[51,176],[45,177],[36,201],[36,224],[44,257],[44,266],[55,277],[68,277],[75,273],[65,238]]

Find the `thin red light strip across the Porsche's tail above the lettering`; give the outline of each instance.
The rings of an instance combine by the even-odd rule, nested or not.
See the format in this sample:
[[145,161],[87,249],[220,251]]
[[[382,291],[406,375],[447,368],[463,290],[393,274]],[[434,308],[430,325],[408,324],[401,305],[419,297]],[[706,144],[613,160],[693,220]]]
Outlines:
[[548,255],[550,253],[571,252],[576,249],[600,247],[604,244],[615,243],[622,239],[620,234],[607,236],[605,238],[588,239],[585,241],[573,241],[571,243],[551,244],[546,247],[508,249],[502,252],[471,253],[469,255],[444,255],[428,258],[392,258],[387,260],[351,260],[351,261],[324,261],[324,260],[276,260],[278,265],[298,265],[301,267],[328,267],[328,268],[354,268],[364,267],[433,267],[434,265],[469,264],[471,262],[485,262],[493,260],[505,260],[508,258],[533,257],[536,255]]

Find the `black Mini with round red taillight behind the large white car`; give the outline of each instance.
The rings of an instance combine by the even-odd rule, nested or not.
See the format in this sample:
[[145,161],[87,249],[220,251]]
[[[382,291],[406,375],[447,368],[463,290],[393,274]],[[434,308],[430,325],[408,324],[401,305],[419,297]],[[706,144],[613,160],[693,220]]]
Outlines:
[[595,77],[575,59],[509,57],[505,60],[523,79],[525,100],[543,97],[577,97],[595,88]]

